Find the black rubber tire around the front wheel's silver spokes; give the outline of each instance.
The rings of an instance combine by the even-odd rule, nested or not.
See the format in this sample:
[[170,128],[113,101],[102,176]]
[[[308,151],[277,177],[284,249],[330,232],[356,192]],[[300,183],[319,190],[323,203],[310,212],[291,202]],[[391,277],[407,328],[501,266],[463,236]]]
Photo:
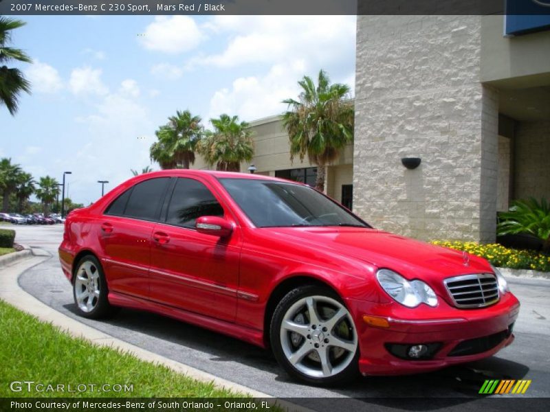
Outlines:
[[[290,313],[289,310],[292,310],[294,306],[296,305],[300,306],[300,304],[302,304],[303,299],[308,299],[308,298],[314,299],[314,297],[316,297],[316,299],[327,298],[327,301],[329,301],[329,303],[326,304],[327,307],[331,304],[330,303],[331,299],[333,302],[338,302],[338,304],[340,304],[340,307],[344,308],[347,311],[347,314],[349,315],[349,317],[346,315],[346,317],[343,317],[342,321],[336,323],[336,325],[339,325],[338,329],[340,329],[342,327],[340,323],[345,322],[344,328],[346,327],[346,325],[348,325],[349,331],[351,331],[351,334],[353,334],[348,336],[355,336],[354,353],[352,351],[342,350],[338,347],[332,347],[331,345],[329,345],[329,343],[325,342],[327,345],[327,349],[325,350],[327,351],[328,359],[331,358],[329,354],[330,353],[329,347],[331,347],[331,350],[333,351],[332,352],[333,355],[336,353],[334,352],[335,350],[340,350],[342,353],[341,356],[346,356],[345,358],[342,358],[342,363],[340,364],[340,366],[337,365],[337,368],[335,368],[336,370],[338,368],[342,368],[342,370],[338,371],[338,373],[335,372],[335,374],[333,374],[332,376],[322,376],[322,377],[311,376],[311,374],[309,373],[304,373],[303,371],[298,370],[297,367],[295,367],[289,361],[288,355],[285,354],[285,349],[283,349],[283,340],[287,339],[283,336],[285,336],[285,334],[287,336],[293,336],[293,332],[290,332],[289,330],[285,330],[284,332],[281,332],[281,325],[283,323],[283,320],[285,320],[285,316],[288,316],[288,314]],[[320,304],[323,304],[323,302],[321,302]],[[328,309],[328,310],[331,310],[331,309]],[[338,310],[338,306],[336,306],[336,309],[334,309],[335,312],[336,310]],[[303,316],[303,319],[305,319],[303,314],[301,316]],[[294,322],[295,320],[293,319],[292,321]],[[327,319],[327,321],[329,321],[329,319]],[[351,322],[351,325],[349,325],[350,322]],[[308,320],[307,322],[304,322],[304,323],[305,323],[305,326],[309,328],[309,330],[313,328],[311,321]],[[328,332],[333,332],[335,330],[336,330],[336,326],[334,327],[333,330],[330,330]],[[320,328],[319,328],[319,331],[320,331]],[[309,332],[305,332],[305,333],[309,333]],[[295,334],[295,336],[300,336],[300,335]],[[333,333],[332,339],[334,338],[340,338],[340,336],[336,336],[336,333]],[[290,339],[290,337],[288,339]],[[299,339],[302,340],[302,345],[299,347],[299,349],[301,349],[302,346],[305,347],[305,345],[307,344],[315,345],[315,343],[312,343],[312,340],[318,339],[318,336],[311,337],[311,334],[307,334],[307,337],[301,336],[299,337]],[[290,339],[289,342],[292,342],[292,339]],[[337,386],[337,385],[342,385],[344,383],[347,383],[351,380],[354,380],[355,378],[358,378],[358,376],[360,376],[359,375],[359,356],[360,356],[359,343],[358,343],[357,331],[355,329],[355,325],[353,324],[353,319],[351,319],[351,314],[349,314],[349,310],[347,310],[342,299],[340,299],[340,297],[333,290],[329,288],[316,286],[316,285],[306,285],[306,286],[300,286],[296,289],[291,290],[289,293],[287,293],[287,295],[285,295],[285,297],[281,299],[281,301],[279,302],[278,306],[274,311],[271,325],[270,325],[270,343],[271,343],[275,358],[277,359],[279,365],[281,365],[281,367],[283,367],[283,369],[287,371],[287,374],[289,374],[292,378],[296,378],[298,380],[302,380],[304,382],[308,382],[316,386]],[[321,341],[320,344],[322,343],[323,342]],[[319,347],[319,344],[316,347]],[[287,353],[288,353],[288,349],[289,349],[289,345],[287,346],[287,349],[286,349]],[[311,356],[312,352],[315,352],[315,354],[318,354],[316,356],[319,356],[319,359],[320,359],[321,352],[316,352],[316,351],[317,351],[316,349],[312,349],[308,355],[303,356],[303,359],[305,360],[305,362],[309,363],[311,361],[309,357]],[[299,352],[299,350],[296,350],[296,353],[297,352]],[[338,358],[336,359],[336,361],[338,361]],[[303,365],[301,365],[302,362],[303,361],[298,361],[298,363],[300,364],[300,366],[298,367],[303,367]],[[331,361],[329,361],[329,363],[330,362]],[[313,366],[315,366],[314,363],[313,363]],[[319,363],[319,367],[320,367],[320,363]],[[305,369],[307,369],[307,366],[305,367]],[[335,370],[335,369],[332,369],[332,370]],[[313,371],[313,369],[311,370]],[[321,370],[319,371],[319,373],[324,374],[324,371]]]

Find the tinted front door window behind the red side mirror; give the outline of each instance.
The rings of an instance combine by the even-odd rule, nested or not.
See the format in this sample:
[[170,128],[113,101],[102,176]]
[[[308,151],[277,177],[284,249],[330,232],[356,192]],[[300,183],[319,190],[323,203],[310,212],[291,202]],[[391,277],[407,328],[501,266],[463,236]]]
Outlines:
[[166,223],[195,228],[195,220],[200,216],[223,216],[223,208],[201,182],[177,179],[168,205]]

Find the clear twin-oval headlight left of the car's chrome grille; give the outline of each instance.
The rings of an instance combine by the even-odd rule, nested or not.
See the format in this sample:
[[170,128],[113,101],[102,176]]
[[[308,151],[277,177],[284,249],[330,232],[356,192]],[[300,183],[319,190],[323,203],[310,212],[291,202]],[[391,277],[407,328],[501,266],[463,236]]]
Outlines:
[[380,269],[376,273],[382,289],[401,305],[416,308],[419,304],[437,306],[437,296],[428,284],[421,280],[407,280],[389,269]]

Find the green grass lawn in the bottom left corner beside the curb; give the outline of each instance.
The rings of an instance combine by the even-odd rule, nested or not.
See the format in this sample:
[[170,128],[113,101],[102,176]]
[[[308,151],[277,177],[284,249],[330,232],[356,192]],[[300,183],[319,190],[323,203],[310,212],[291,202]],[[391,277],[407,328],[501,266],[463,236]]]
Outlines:
[[[0,398],[5,397],[236,397],[168,369],[107,347],[75,339],[0,300]],[[10,382],[34,381],[44,391],[10,390]],[[67,393],[45,391],[48,384],[96,385]],[[133,385],[133,391],[100,391],[102,385]],[[42,388],[39,388],[42,389]]]

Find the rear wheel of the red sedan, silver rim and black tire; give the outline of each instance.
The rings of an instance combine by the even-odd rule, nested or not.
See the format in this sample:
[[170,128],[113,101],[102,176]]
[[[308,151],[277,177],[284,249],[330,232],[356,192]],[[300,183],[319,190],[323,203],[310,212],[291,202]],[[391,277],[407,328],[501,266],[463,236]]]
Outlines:
[[[92,281],[85,282],[83,279]],[[98,296],[93,295],[92,290],[98,292]],[[108,295],[109,289],[98,258],[94,255],[85,255],[78,261],[73,279],[73,297],[78,314],[88,319],[105,319],[113,316],[118,312],[118,308],[109,304]]]

